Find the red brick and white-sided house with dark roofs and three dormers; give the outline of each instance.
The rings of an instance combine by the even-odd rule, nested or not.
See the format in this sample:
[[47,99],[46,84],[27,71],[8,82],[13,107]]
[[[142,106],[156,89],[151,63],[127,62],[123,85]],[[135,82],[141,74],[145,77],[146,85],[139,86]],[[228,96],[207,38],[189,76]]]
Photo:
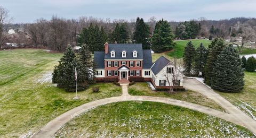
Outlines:
[[155,88],[183,85],[183,74],[180,71],[175,81],[169,84],[174,73],[172,62],[161,56],[153,63],[151,50],[143,50],[141,44],[106,42],[105,51],[94,51],[94,64],[96,81],[119,83],[150,81]]

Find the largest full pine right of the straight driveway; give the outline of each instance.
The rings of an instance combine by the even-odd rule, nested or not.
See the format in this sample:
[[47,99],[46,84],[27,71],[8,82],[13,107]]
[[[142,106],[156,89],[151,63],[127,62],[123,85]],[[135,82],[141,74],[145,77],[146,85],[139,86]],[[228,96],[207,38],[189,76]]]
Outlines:
[[218,55],[214,63],[211,86],[222,92],[239,92],[244,86],[244,72],[238,51],[229,45]]

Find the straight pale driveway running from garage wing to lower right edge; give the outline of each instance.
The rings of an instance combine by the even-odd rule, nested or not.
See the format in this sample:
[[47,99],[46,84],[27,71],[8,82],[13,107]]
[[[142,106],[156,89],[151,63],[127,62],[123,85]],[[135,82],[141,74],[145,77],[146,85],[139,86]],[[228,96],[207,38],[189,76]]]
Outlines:
[[[221,97],[220,94],[214,92],[212,89],[206,87],[203,83],[197,81],[196,79],[184,79],[184,87],[193,91],[197,91],[207,98],[210,98],[218,103],[222,108],[226,109],[236,120],[236,124],[248,128],[256,134],[256,120],[252,119],[250,116],[246,115],[242,110],[238,109],[236,106],[232,105],[228,100]],[[233,122],[235,123],[235,122]]]

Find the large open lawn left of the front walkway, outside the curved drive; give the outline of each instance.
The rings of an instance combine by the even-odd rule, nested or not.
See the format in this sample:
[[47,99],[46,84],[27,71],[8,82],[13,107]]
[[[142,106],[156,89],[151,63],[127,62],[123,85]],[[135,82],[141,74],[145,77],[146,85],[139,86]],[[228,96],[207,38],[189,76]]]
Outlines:
[[52,72],[62,54],[42,49],[0,51],[0,137],[19,137],[35,133],[47,122],[83,103],[121,95],[121,88],[112,83],[94,84],[75,93],[54,87],[51,83],[37,83]]

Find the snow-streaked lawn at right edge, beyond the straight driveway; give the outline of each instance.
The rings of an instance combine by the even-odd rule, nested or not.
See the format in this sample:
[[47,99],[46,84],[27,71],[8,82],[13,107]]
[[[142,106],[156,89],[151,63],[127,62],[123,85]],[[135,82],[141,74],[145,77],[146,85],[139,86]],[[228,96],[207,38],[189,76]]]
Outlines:
[[256,72],[245,72],[244,80],[245,85],[241,92],[218,93],[256,120]]

